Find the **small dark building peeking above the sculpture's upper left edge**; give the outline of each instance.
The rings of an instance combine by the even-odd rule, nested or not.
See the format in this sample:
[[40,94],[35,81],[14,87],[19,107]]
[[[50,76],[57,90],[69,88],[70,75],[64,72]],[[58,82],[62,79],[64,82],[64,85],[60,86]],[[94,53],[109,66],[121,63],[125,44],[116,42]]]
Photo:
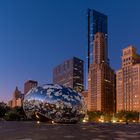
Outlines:
[[37,81],[34,81],[34,80],[28,80],[24,83],[24,95],[27,94],[27,92],[29,90],[31,90],[32,88],[34,87],[37,87],[38,85],[38,82]]

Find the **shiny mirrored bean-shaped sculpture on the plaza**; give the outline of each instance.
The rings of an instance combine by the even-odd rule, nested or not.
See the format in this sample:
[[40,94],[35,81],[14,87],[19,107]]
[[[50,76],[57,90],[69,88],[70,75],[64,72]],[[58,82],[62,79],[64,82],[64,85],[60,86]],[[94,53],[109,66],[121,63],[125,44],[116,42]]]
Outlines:
[[28,118],[76,123],[85,116],[82,96],[57,84],[38,86],[30,90],[24,98],[23,109]]

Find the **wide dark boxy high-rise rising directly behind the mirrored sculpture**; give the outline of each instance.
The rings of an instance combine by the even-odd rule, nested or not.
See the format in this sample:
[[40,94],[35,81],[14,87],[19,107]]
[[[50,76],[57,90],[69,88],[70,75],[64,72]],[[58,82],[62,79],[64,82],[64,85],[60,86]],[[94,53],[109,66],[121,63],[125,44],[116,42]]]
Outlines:
[[73,57],[53,69],[53,83],[71,87],[77,92],[84,89],[84,62]]

